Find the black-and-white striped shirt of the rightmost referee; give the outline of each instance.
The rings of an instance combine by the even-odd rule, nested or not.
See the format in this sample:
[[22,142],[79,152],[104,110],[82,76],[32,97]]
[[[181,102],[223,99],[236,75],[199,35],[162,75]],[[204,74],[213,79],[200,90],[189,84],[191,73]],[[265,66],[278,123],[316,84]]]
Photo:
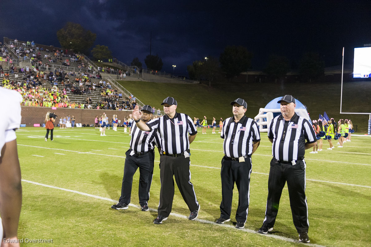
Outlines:
[[302,159],[305,140],[308,143],[317,141],[311,123],[296,113],[290,121],[285,121],[282,114],[273,118],[269,124],[268,138],[273,139],[272,155],[278,161]]

